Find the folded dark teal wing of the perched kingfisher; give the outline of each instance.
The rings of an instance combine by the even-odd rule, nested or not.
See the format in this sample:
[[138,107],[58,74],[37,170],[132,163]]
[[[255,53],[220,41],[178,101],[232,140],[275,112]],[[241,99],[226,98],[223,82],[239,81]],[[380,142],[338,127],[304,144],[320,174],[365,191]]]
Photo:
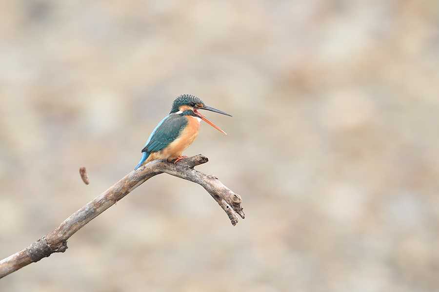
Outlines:
[[169,115],[154,130],[142,152],[157,152],[168,146],[180,136],[187,125],[187,118],[180,115]]

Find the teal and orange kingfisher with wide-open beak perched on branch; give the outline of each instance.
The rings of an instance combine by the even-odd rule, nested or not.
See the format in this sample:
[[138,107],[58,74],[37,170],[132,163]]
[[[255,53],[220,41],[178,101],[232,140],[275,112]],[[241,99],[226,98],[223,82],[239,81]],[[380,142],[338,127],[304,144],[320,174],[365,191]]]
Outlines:
[[201,120],[226,134],[208,120],[207,117],[201,115],[198,110],[208,110],[232,117],[223,111],[205,105],[196,96],[190,94],[180,95],[172,103],[169,115],[160,121],[149,136],[145,147],[141,151],[142,158],[134,170],[138,169],[142,164],[156,159],[166,159],[166,161],[175,159],[175,164],[181,158],[187,157],[181,155],[197,138],[200,132]]

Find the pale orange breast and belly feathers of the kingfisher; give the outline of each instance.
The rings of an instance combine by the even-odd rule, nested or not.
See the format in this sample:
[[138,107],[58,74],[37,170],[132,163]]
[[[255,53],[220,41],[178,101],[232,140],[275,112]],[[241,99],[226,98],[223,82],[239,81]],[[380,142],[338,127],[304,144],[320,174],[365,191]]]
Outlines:
[[151,153],[146,161],[149,162],[155,159],[176,159],[182,155],[187,147],[194,143],[200,132],[200,121],[197,117],[186,116],[186,118],[187,126],[181,131],[180,136],[163,150]]

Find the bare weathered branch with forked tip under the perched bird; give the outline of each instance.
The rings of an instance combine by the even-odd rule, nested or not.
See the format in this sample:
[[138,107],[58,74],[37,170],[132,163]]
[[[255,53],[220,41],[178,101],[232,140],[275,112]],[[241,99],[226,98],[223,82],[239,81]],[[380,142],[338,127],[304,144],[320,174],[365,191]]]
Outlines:
[[13,273],[30,263],[49,256],[63,253],[67,249],[67,239],[93,218],[110,208],[149,178],[166,173],[200,184],[218,202],[229,216],[231,223],[238,223],[238,216],[244,218],[241,197],[224,186],[215,175],[205,175],[194,167],[208,161],[207,157],[196,155],[181,159],[177,164],[155,160],[136,171],[132,171],[119,182],[93,199],[80,210],[64,220],[54,231],[32,243],[29,247],[0,261],[0,278]]

